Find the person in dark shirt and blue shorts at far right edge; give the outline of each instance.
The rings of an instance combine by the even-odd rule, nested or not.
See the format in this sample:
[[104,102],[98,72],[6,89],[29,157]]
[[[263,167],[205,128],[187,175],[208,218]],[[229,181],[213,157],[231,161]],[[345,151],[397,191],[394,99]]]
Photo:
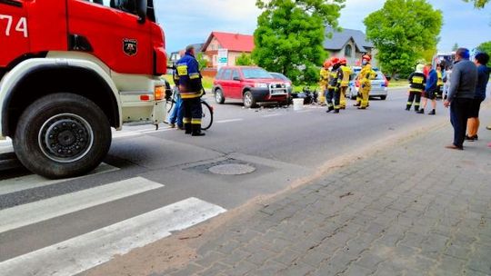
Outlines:
[[489,72],[491,68],[487,67],[489,62],[489,55],[486,53],[476,54],[477,65],[477,85],[476,94],[474,95],[474,102],[472,104],[472,111],[470,113],[470,119],[467,122],[467,141],[478,140],[477,131],[479,130],[479,111],[481,109],[481,103],[486,100],[486,86],[489,81]]

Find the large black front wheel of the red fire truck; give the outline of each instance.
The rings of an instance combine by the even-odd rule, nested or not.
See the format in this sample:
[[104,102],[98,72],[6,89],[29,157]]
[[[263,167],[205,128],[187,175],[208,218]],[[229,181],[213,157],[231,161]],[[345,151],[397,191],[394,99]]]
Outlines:
[[111,126],[105,113],[77,94],[49,94],[29,105],[14,137],[20,162],[51,179],[94,170],[110,146]]

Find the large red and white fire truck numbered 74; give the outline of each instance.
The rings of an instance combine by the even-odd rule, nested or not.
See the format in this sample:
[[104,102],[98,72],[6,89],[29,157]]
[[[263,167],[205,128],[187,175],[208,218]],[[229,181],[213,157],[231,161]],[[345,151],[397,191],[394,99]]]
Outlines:
[[153,0],[0,0],[0,139],[48,178],[102,162],[111,127],[165,118]]

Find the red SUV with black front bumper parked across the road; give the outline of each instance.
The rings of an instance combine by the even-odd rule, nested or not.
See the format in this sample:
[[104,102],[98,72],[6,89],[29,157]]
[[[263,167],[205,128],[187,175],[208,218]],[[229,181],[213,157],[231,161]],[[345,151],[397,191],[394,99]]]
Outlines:
[[288,104],[291,84],[274,78],[263,68],[248,66],[222,67],[216,74],[213,93],[218,104],[225,99],[241,99],[246,108],[260,102]]

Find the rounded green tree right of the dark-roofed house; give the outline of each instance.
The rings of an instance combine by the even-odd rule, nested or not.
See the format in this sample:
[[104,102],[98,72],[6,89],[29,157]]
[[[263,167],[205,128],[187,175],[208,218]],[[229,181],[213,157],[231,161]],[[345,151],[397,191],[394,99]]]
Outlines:
[[443,15],[426,0],[387,0],[365,18],[366,35],[387,74],[409,74],[427,50],[436,49]]

